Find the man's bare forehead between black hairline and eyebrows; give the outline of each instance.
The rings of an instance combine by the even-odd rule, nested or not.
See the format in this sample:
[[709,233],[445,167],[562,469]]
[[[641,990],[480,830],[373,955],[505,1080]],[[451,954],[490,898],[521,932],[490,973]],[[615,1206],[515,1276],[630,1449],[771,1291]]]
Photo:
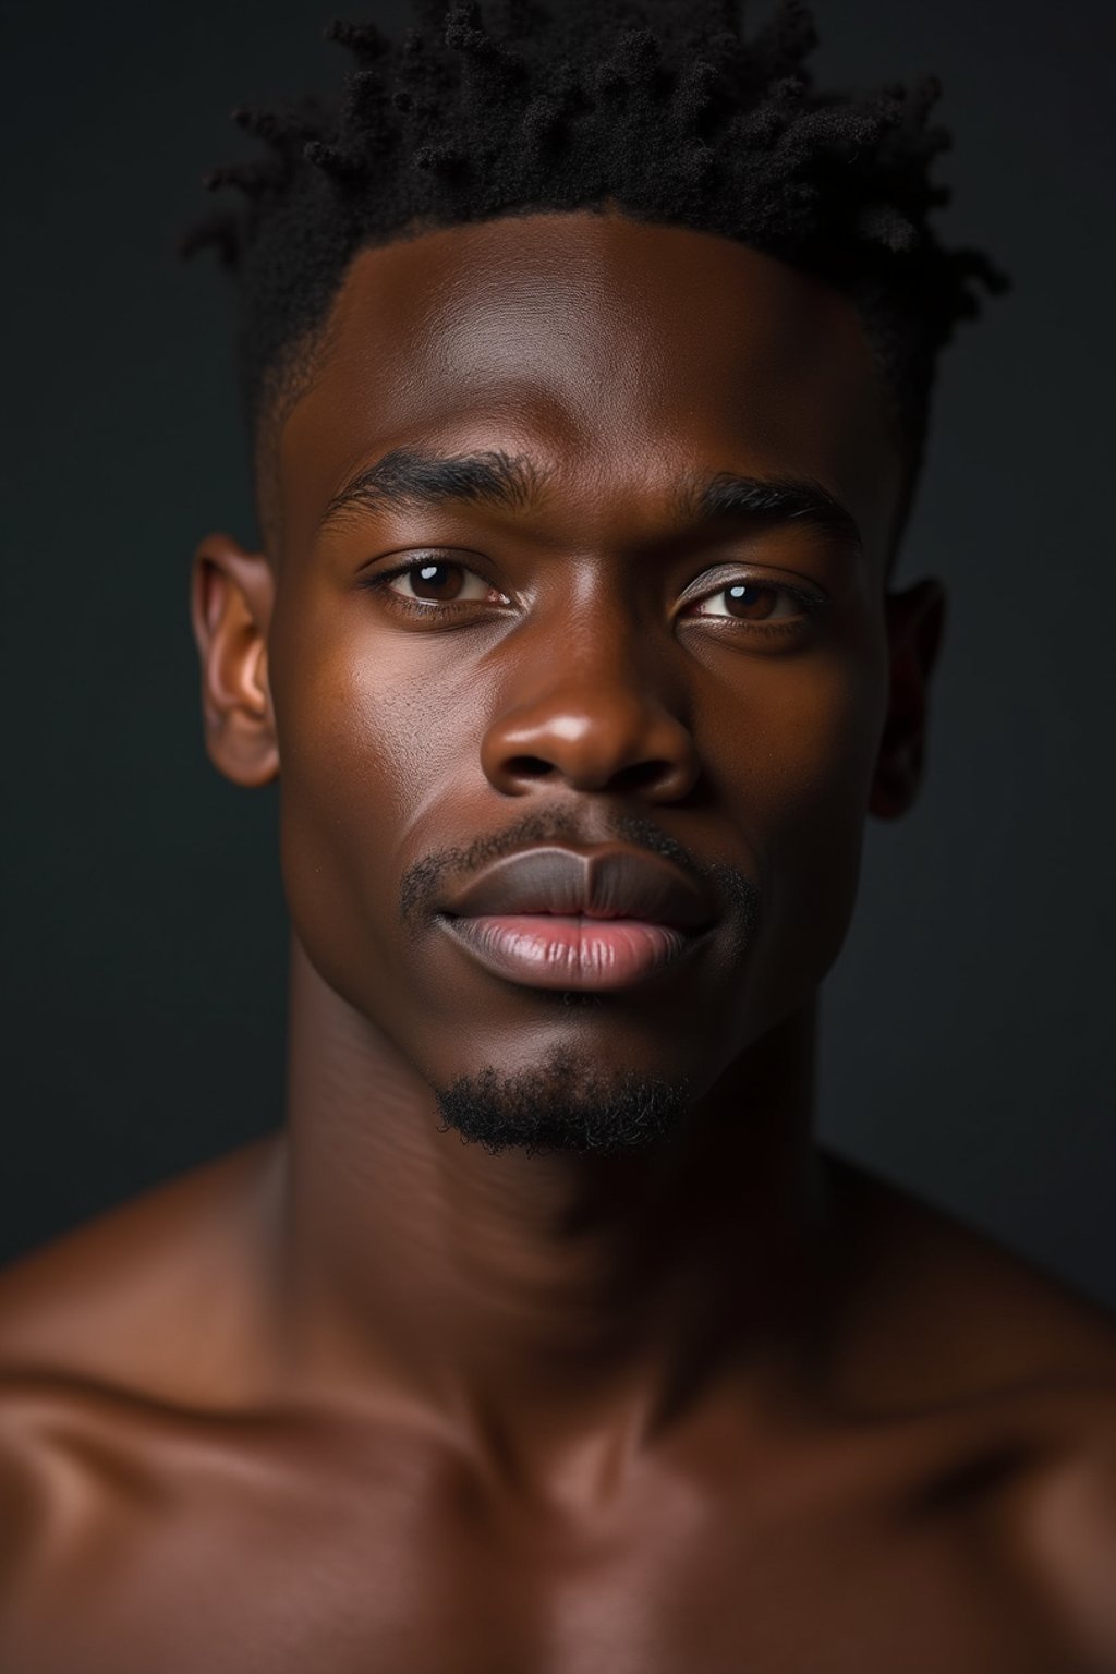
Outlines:
[[820,482],[883,552],[902,479],[847,298],[731,239],[614,213],[363,249],[279,437],[284,547],[398,447],[504,449],[614,502],[693,470]]

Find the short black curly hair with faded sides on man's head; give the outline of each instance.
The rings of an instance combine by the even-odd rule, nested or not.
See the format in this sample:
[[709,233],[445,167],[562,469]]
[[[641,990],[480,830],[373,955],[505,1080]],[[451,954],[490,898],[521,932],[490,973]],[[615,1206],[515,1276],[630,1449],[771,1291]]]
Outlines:
[[937,353],[1007,288],[977,249],[945,249],[929,166],[937,77],[815,90],[801,0],[743,33],[743,0],[413,0],[402,40],[335,22],[343,97],[234,119],[264,152],[214,169],[238,209],[182,239],[236,280],[249,432],[286,410],[356,249],[515,213],[619,208],[719,233],[827,280],[858,308],[907,452],[902,531]]

